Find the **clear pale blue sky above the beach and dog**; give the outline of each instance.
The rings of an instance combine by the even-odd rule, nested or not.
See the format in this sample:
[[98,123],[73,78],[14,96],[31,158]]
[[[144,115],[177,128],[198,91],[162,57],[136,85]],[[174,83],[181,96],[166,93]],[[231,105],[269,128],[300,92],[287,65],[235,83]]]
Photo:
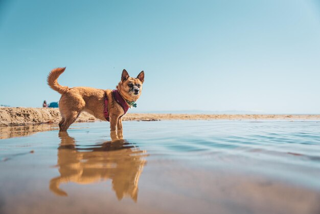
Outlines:
[[60,84],[101,89],[144,70],[136,112],[320,113],[320,4],[0,0],[0,65],[10,106],[58,101],[66,66]]

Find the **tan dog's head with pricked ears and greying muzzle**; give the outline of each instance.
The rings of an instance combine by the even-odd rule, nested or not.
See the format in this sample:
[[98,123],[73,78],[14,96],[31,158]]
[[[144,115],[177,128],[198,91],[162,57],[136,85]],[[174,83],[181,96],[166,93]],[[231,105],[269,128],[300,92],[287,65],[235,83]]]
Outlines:
[[122,71],[121,81],[119,82],[117,89],[125,99],[135,101],[141,95],[144,79],[144,71],[140,72],[140,74],[134,78],[130,77],[128,72],[124,69]]

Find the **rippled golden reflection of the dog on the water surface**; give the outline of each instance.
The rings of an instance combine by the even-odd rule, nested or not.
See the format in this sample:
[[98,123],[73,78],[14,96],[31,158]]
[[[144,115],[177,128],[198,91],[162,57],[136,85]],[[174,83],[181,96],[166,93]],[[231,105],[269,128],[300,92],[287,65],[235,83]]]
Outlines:
[[111,132],[111,140],[99,145],[78,148],[74,138],[60,132],[58,148],[60,176],[51,179],[50,190],[67,196],[61,183],[90,184],[112,179],[112,189],[118,200],[130,196],[136,202],[138,181],[146,160],[145,151],[122,139],[122,133]]

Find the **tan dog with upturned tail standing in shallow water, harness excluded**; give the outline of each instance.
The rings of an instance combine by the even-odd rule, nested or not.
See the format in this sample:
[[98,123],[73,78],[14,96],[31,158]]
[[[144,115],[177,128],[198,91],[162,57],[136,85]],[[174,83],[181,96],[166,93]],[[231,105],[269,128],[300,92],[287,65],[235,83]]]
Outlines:
[[[61,94],[59,101],[59,110],[62,116],[62,120],[59,122],[60,132],[66,132],[82,111],[86,111],[100,120],[109,119],[111,131],[122,130],[122,116],[125,114],[125,110],[115,100],[112,90],[62,86],[57,79],[64,70],[65,68],[56,68],[48,76],[50,88]],[[136,78],[129,77],[126,70],[122,71],[117,90],[121,95],[120,98],[123,98],[128,106],[131,106],[140,97],[144,77],[143,71]],[[107,98],[107,102],[105,102],[105,98]],[[107,109],[105,103],[107,103]],[[109,118],[105,116],[106,110]]]

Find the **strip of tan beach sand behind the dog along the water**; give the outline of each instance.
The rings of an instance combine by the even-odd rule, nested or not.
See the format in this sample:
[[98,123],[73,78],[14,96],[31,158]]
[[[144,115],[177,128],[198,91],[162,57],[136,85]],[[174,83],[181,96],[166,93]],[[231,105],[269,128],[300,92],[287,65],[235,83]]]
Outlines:
[[[157,120],[320,120],[320,115],[227,115],[227,114],[136,114],[128,113],[123,120],[157,121]],[[53,108],[0,108],[0,126],[35,125],[43,123],[57,124],[60,120],[58,109]],[[97,121],[94,116],[83,112],[76,122]]]

